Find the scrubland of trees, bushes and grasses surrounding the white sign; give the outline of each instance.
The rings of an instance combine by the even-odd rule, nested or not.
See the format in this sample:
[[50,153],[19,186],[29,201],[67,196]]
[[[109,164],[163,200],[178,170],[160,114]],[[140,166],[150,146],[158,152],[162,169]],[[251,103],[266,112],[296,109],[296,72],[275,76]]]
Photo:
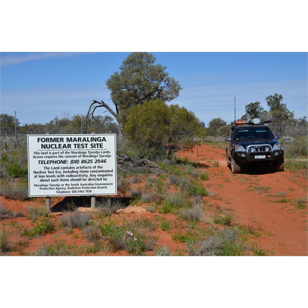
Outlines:
[[[64,115],[46,124],[21,126],[12,116],[1,114],[1,196],[14,200],[16,206],[21,201],[27,204],[22,211],[1,206],[1,255],[265,254],[253,243],[258,236],[254,227],[236,222],[233,204],[227,207],[215,191],[225,189],[230,180],[223,179],[224,185],[208,184],[213,177],[223,178],[220,158],[188,159],[190,151],[205,142],[224,159],[222,141],[230,125],[217,118],[205,127],[194,113],[171,104],[182,88],[147,52],[129,54],[106,85],[114,106],[93,100],[84,117]],[[299,172],[307,169],[307,121],[295,119],[282,99],[277,93],[266,97],[268,110],[259,102],[247,104],[242,119],[270,118],[272,130],[281,135],[285,168]],[[94,114],[99,107],[110,115]],[[15,127],[18,139],[14,140]],[[81,130],[117,134],[118,195],[100,198],[91,211],[86,197],[82,204],[73,198],[67,202],[53,198],[52,213],[48,213],[42,209],[43,198],[28,197],[26,135],[79,134]],[[184,150],[186,157],[180,155]],[[244,185],[246,178],[234,180]],[[262,183],[251,187],[248,194],[264,194],[271,188]],[[279,203],[290,203],[288,196],[278,197]],[[305,211],[306,197],[299,197],[292,206]],[[34,242],[40,242],[35,250]]]

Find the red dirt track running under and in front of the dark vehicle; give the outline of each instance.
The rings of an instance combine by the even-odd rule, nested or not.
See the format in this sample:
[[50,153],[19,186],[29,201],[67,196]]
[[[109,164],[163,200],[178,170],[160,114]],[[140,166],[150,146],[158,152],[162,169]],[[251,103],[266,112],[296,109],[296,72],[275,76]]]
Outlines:
[[[307,208],[296,200],[307,196],[305,172],[275,172],[271,167],[245,168],[232,174],[224,148],[199,145],[181,153],[209,174],[209,202],[230,209],[233,224],[254,229],[251,239],[267,256],[307,256]],[[250,241],[250,240],[249,240]]]

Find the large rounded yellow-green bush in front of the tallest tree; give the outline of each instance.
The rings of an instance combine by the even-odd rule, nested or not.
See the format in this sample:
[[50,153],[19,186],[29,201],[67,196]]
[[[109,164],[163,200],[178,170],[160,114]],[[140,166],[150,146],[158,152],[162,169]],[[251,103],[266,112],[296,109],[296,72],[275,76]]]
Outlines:
[[204,136],[194,113],[159,99],[130,107],[124,130],[130,145],[146,157],[171,156]]

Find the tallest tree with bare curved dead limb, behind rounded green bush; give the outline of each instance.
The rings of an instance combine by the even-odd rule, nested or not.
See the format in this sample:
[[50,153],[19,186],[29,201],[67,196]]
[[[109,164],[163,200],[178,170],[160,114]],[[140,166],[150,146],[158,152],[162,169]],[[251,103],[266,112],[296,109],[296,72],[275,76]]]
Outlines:
[[166,72],[166,67],[156,63],[156,57],[148,52],[131,52],[119,71],[107,80],[106,86],[114,107],[104,101],[93,100],[87,119],[97,108],[103,107],[117,120],[122,133],[130,107],[156,99],[170,102],[179,96],[182,89],[179,82]]

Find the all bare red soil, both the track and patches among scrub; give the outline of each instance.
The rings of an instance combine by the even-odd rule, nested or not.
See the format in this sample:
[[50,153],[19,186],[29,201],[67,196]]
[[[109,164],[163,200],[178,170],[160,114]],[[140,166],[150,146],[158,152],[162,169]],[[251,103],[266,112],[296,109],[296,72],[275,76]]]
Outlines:
[[[203,181],[205,187],[211,192],[206,197],[211,204],[227,208],[232,211],[234,217],[232,223],[247,226],[257,230],[259,236],[254,237],[256,245],[266,252],[267,256],[307,256],[307,208],[296,208],[296,200],[307,196],[306,171],[273,172],[268,169],[258,168],[247,170],[244,174],[233,175],[226,167],[224,149],[211,147],[210,145],[199,146],[199,157],[197,149],[181,152],[181,157],[199,164],[202,171],[207,172],[208,180]],[[135,184],[135,185],[140,185]],[[136,186],[137,187],[137,186]],[[63,198],[51,198],[51,207]],[[20,230],[16,226],[31,227],[31,220],[28,218],[31,207],[45,207],[43,198],[36,198],[35,201],[15,201],[0,197],[2,206],[11,209],[15,213],[23,213],[23,217],[1,220],[1,229],[9,230],[10,240],[17,242],[23,240]],[[177,215],[162,215],[149,213],[145,210],[146,205],[129,205],[118,214],[113,214],[112,219],[121,221],[124,217],[129,220],[136,217],[147,217],[151,220],[170,221],[172,227],[177,227],[184,232],[185,227]],[[80,208],[79,210],[85,210]],[[57,223],[65,215],[62,211],[52,213],[52,219]],[[173,232],[175,228],[173,229]],[[187,255],[185,244],[177,243],[171,238],[169,230],[162,231],[158,227],[153,236],[157,237],[157,246],[166,245],[174,255]],[[81,247],[88,244],[82,230],[73,229],[72,234],[67,234],[64,229],[57,228],[53,234],[45,234],[41,237],[29,240],[24,248],[24,254],[35,255],[42,244],[55,243],[57,239],[63,239],[66,244]],[[148,252],[147,255],[154,255]],[[18,252],[10,253],[12,256],[20,255]],[[81,255],[85,255],[81,253]],[[97,254],[94,254],[97,255]],[[125,256],[126,252],[107,252],[108,256]]]

